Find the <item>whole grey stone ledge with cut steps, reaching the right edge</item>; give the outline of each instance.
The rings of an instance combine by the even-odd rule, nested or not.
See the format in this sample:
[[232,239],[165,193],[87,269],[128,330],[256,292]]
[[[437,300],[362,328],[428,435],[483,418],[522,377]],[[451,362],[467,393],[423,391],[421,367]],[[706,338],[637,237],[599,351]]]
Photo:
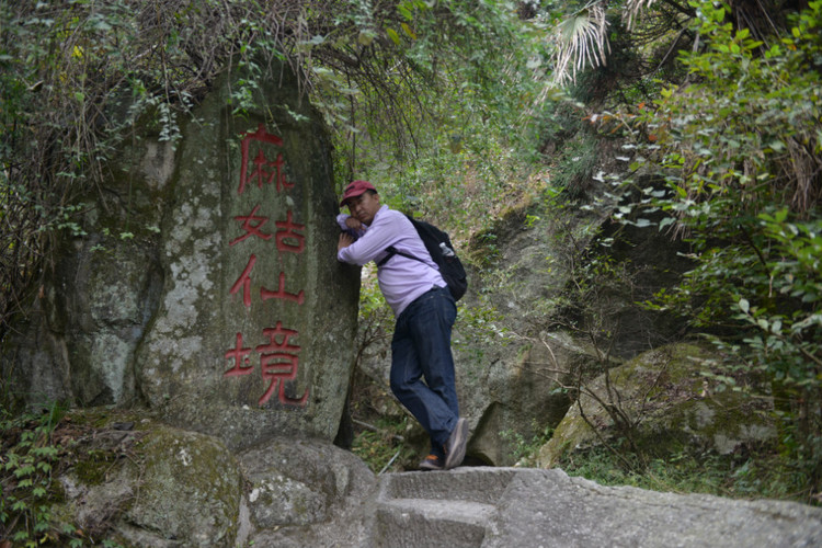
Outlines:
[[458,468],[388,473],[378,478],[373,496],[365,527],[359,529],[363,536],[351,546],[822,546],[822,509],[784,501],[603,487],[569,478],[556,469]]

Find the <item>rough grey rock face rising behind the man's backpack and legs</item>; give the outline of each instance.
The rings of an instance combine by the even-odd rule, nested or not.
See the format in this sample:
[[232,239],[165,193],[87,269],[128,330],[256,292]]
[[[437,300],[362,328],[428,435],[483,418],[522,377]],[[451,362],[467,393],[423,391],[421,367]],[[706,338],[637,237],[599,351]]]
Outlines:
[[[636,301],[670,286],[688,263],[655,229],[615,226],[608,213],[535,205],[472,238],[467,251],[487,264],[470,277],[455,336],[459,395],[473,421],[470,456],[513,465],[513,439],[529,443],[556,427],[571,404],[569,388],[681,329]],[[477,300],[495,309],[505,336],[471,329]]]

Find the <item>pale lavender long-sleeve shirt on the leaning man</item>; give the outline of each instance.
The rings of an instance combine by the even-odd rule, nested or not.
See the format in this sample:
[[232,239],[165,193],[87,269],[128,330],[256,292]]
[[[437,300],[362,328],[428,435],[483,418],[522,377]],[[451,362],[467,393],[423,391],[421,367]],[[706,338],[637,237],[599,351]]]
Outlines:
[[364,226],[358,231],[345,226],[346,218],[347,215],[340,214],[336,222],[343,230],[353,233],[356,240],[336,253],[338,261],[361,266],[368,261],[379,263],[387,255],[386,249],[389,246],[424,261],[397,254],[377,269],[379,289],[395,317],[399,317],[408,305],[434,286],[446,287],[420,235],[403,214],[383,205],[370,226]]

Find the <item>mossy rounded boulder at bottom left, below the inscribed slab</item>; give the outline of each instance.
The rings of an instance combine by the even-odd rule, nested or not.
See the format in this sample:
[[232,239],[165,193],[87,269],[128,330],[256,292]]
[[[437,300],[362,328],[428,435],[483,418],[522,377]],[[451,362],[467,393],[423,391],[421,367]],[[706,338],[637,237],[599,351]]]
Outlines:
[[59,477],[64,521],[132,546],[235,546],[243,486],[221,442],[149,420],[94,438]]

